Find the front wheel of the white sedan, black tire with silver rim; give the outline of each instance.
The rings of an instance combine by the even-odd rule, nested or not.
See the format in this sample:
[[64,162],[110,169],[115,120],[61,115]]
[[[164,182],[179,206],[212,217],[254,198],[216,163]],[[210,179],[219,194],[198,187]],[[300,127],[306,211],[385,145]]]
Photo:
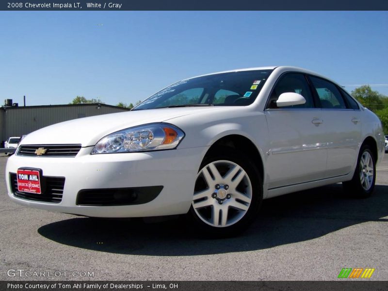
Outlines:
[[188,215],[201,234],[235,236],[256,217],[262,189],[260,173],[248,157],[219,148],[201,163]]

